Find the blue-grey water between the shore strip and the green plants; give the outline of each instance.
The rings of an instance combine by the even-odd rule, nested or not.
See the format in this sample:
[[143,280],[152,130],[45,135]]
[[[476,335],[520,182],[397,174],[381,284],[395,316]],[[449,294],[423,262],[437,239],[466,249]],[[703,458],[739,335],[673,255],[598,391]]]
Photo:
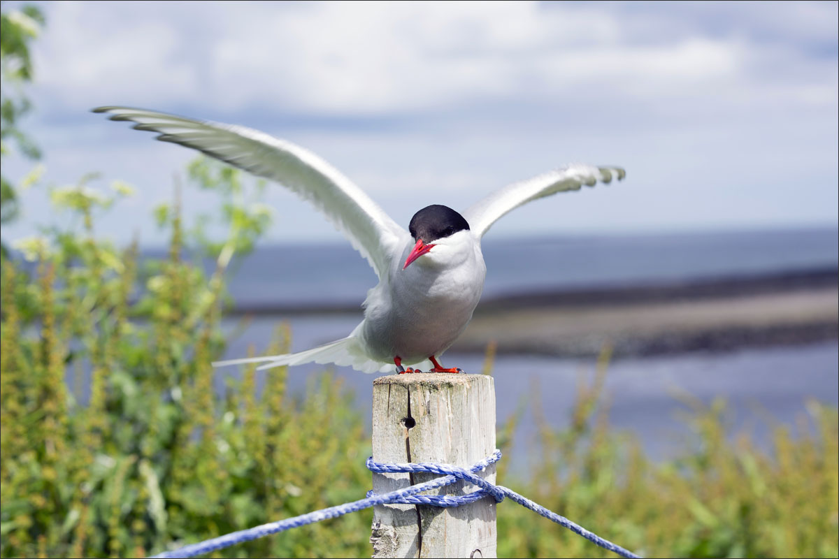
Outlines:
[[[291,318],[292,349],[308,349],[347,334],[361,319],[356,316]],[[227,321],[232,329],[234,321]],[[258,349],[270,339],[277,319],[255,318],[242,336],[233,340],[227,357],[246,354],[248,344]],[[468,371],[481,371],[482,355],[447,353],[445,362]],[[532,408],[539,399],[545,419],[555,427],[567,426],[581,378],[591,382],[593,359],[557,359],[534,355],[498,355],[493,366],[499,425],[524,402],[525,413],[513,448],[516,468],[525,468],[528,443],[536,432]],[[690,395],[705,404],[725,398],[732,432],[749,427],[758,444],[767,448],[766,417],[792,425],[805,414],[805,403],[816,399],[839,403],[839,344],[836,342],[742,349],[721,354],[684,354],[614,360],[609,365],[604,396],[610,402],[613,427],[637,437],[652,458],[670,458],[685,450],[690,429],[679,421],[687,406],[680,395]],[[303,391],[311,375],[326,370],[324,365],[299,365],[289,369],[289,389]],[[355,392],[357,406],[370,426],[374,375],[348,367],[330,366],[344,386]],[[258,371],[258,388],[270,371]],[[216,390],[224,378],[239,378],[233,368],[220,369]]]

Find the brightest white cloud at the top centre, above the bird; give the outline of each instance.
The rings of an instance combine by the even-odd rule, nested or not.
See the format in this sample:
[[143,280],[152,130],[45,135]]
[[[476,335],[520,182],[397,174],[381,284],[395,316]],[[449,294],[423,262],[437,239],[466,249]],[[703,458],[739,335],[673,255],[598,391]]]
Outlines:
[[[737,44],[621,44],[620,22],[536,3],[333,3],[250,20],[213,52],[217,101],[341,114],[526,100],[586,86],[651,95],[737,73]],[[277,96],[279,95],[279,99]]]

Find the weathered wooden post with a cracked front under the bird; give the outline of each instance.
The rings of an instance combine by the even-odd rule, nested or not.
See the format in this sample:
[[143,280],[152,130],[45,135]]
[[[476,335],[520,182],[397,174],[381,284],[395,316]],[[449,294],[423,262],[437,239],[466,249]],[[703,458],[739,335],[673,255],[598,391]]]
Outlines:
[[[469,467],[495,450],[492,376],[415,373],[373,380],[373,460]],[[495,464],[478,473],[495,483]],[[387,493],[435,474],[373,474]],[[458,481],[430,494],[467,494]],[[495,557],[495,499],[454,508],[380,505],[373,511],[373,557]]]

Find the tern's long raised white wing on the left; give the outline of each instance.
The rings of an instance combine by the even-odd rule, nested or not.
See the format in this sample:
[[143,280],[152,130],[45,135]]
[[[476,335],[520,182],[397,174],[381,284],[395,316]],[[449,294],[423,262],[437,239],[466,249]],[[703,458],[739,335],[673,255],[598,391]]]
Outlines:
[[283,184],[326,214],[379,277],[387,272],[390,255],[401,250],[408,236],[350,179],[291,142],[252,128],[127,106],[101,106],[93,112],[108,113],[112,121],[136,122],[134,128],[159,132],[157,139],[163,142],[180,143]]

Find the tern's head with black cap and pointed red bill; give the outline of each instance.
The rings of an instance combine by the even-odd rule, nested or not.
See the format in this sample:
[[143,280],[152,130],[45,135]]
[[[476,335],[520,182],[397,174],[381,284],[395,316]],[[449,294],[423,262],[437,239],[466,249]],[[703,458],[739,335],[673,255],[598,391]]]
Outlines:
[[[466,247],[469,239],[469,224],[463,216],[440,204],[427,206],[415,213],[408,230],[416,244],[405,260],[403,270],[423,255],[431,255],[431,260],[440,260],[440,264],[445,264]],[[432,248],[435,248],[433,253]]]

